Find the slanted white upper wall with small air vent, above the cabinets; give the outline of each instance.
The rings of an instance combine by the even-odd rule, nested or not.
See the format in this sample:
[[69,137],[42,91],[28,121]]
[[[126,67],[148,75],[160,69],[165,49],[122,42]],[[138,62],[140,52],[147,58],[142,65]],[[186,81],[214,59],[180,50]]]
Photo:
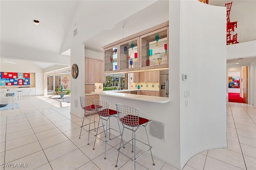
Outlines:
[[[87,39],[94,37],[94,35],[105,31],[106,29],[112,29],[120,21],[142,10],[146,6],[153,4],[154,2],[156,2],[156,0],[138,0],[135,4],[127,0],[79,1],[76,14],[74,14],[72,23],[70,23],[70,28],[62,46],[61,52],[70,49],[72,44],[82,43]],[[110,6],[114,10],[106,8]],[[125,8],[120,8],[123,6],[125,6]],[[94,13],[92,13],[92,10],[87,10],[88,8],[94,8]],[[100,20],[100,22],[95,22],[95,17],[88,16],[98,16],[98,20]],[[94,26],[89,27],[88,25],[90,25],[90,23],[94,23]],[[73,31],[76,28],[78,29],[78,35],[74,39]],[[88,34],[88,32],[90,34]]]

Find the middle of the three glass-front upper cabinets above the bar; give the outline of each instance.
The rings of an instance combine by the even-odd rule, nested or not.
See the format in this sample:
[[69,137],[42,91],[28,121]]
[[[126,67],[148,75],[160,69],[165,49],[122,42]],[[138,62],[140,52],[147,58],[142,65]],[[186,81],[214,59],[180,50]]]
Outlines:
[[130,39],[119,44],[120,49],[120,70],[131,71],[139,69],[139,37]]

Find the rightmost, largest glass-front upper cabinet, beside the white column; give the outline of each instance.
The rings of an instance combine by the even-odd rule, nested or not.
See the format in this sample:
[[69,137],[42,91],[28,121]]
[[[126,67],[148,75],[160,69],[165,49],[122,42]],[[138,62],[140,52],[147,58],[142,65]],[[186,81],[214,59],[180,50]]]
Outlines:
[[168,68],[168,26],[140,36],[140,46],[140,70]]

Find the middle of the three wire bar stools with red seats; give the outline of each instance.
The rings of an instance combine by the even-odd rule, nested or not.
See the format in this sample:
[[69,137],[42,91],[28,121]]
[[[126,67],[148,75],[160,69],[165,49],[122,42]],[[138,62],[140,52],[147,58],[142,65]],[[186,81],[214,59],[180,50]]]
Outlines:
[[[94,141],[94,145],[93,145],[93,149],[92,150],[94,150],[96,139],[99,139],[101,142],[105,143],[105,156],[104,156],[104,159],[106,159],[107,142],[111,141],[112,139],[115,139],[115,138],[121,136],[121,129],[120,129],[120,125],[119,125],[118,117],[117,117],[118,113],[117,113],[116,110],[109,109],[108,108],[108,103],[104,102],[102,100],[94,99],[94,104],[97,106],[96,107],[96,112],[100,116],[100,119],[99,119],[99,123],[98,123],[98,127],[97,127],[97,132],[96,132],[96,135],[95,135],[95,141]],[[98,106],[100,106],[100,107],[98,107]],[[112,116],[116,117],[116,120],[117,120],[117,123],[118,123],[118,127],[119,127],[119,131],[116,131],[115,129],[110,128],[110,117],[112,117]],[[103,132],[101,132],[101,133],[105,134],[105,140],[102,140],[102,139],[100,139],[100,137],[97,137],[97,135],[101,134],[101,133],[98,133],[98,129],[99,129],[99,125],[100,125],[100,120],[102,121],[102,125],[103,125],[103,120],[106,121],[106,129],[104,129],[104,126],[103,126]],[[108,128],[108,124],[109,124],[109,128]],[[118,136],[116,136],[116,137],[111,139],[110,138],[110,129],[120,133],[120,135],[118,135]],[[109,139],[108,139],[108,131],[109,131]]]

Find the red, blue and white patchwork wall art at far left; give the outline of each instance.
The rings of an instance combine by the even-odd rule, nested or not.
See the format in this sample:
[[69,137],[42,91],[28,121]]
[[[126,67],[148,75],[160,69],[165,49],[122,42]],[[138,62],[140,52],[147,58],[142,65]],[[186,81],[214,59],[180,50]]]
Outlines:
[[30,73],[0,72],[0,86],[30,85]]

